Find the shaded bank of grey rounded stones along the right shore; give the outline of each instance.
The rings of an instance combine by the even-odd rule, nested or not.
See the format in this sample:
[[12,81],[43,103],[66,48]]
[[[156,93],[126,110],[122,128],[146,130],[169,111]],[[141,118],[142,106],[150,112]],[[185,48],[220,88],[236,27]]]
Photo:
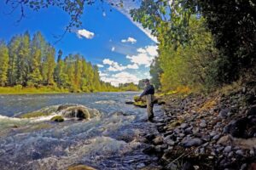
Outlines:
[[145,136],[160,167],[143,169],[256,169],[256,82],[229,94],[167,96],[159,133]]

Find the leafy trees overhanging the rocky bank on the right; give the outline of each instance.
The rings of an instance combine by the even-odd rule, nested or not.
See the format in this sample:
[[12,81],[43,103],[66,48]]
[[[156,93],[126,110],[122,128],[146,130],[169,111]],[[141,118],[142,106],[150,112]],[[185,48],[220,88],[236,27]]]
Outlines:
[[144,0],[133,20],[157,37],[155,87],[213,90],[255,75],[256,3]]

